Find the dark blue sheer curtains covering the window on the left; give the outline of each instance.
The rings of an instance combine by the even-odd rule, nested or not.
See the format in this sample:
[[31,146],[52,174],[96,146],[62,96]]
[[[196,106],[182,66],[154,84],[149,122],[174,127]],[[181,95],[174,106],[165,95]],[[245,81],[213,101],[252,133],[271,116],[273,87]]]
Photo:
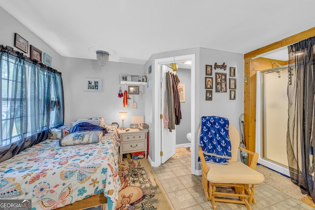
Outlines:
[[[48,137],[63,125],[61,73],[0,45],[0,161]],[[52,102],[53,101],[53,102]]]

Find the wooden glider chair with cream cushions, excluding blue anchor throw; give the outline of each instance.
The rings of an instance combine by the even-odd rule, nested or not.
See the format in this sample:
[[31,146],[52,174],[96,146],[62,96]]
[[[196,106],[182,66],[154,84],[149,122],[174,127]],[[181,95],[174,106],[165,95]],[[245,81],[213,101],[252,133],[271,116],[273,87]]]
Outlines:
[[[201,127],[199,128],[200,136]],[[231,159],[227,164],[206,162],[204,152],[199,142],[199,157],[202,169],[202,186],[207,200],[211,200],[214,210],[217,209],[216,201],[244,204],[248,210],[252,210],[252,204],[256,204],[254,198],[254,185],[264,181],[264,176],[255,171],[258,153],[239,147],[240,135],[237,129],[229,124],[228,135],[231,142]],[[248,152],[251,157],[251,165],[247,166],[237,161],[238,150]]]

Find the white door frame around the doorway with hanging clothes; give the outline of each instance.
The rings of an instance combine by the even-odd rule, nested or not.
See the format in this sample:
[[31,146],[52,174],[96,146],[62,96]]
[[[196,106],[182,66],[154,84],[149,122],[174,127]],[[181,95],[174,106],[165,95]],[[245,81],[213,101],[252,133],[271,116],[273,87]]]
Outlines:
[[[191,82],[191,89],[190,89],[190,110],[191,110],[191,121],[190,121],[190,130],[193,133],[191,135],[191,144],[190,144],[190,150],[191,150],[191,174],[198,175],[197,170],[195,170],[195,135],[194,135],[194,130],[195,130],[195,54],[189,54],[189,55],[183,55],[183,56],[173,56],[173,57],[168,57],[168,58],[161,58],[161,59],[155,59],[154,61],[154,69],[155,69],[155,79],[154,79],[154,84],[155,89],[154,89],[154,101],[158,102],[160,99],[160,68],[159,65],[173,62],[176,60],[176,62],[180,61],[186,61],[186,60],[191,60],[191,69],[190,69],[190,82]],[[155,108],[154,108],[154,116],[155,116],[155,122],[154,122],[154,129],[155,129],[155,134],[154,134],[154,160],[155,160],[155,166],[158,167],[161,165],[161,157],[160,157],[160,151],[161,151],[161,123],[160,123],[160,114],[161,110],[159,108],[159,103],[155,103]]]

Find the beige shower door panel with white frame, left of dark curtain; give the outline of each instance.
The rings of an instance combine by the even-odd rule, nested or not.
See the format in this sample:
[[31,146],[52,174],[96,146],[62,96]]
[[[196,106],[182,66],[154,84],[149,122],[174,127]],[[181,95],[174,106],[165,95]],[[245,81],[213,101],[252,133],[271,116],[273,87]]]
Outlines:
[[289,176],[286,131],[287,68],[257,72],[256,152],[258,163]]

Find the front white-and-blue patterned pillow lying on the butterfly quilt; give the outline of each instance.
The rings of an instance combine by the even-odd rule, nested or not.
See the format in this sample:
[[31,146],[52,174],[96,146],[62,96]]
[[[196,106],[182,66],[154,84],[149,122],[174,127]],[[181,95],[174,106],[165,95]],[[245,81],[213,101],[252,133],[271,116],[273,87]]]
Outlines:
[[74,132],[66,135],[61,140],[59,140],[59,145],[63,147],[98,143],[99,139],[102,138],[102,136],[103,133],[100,130]]

